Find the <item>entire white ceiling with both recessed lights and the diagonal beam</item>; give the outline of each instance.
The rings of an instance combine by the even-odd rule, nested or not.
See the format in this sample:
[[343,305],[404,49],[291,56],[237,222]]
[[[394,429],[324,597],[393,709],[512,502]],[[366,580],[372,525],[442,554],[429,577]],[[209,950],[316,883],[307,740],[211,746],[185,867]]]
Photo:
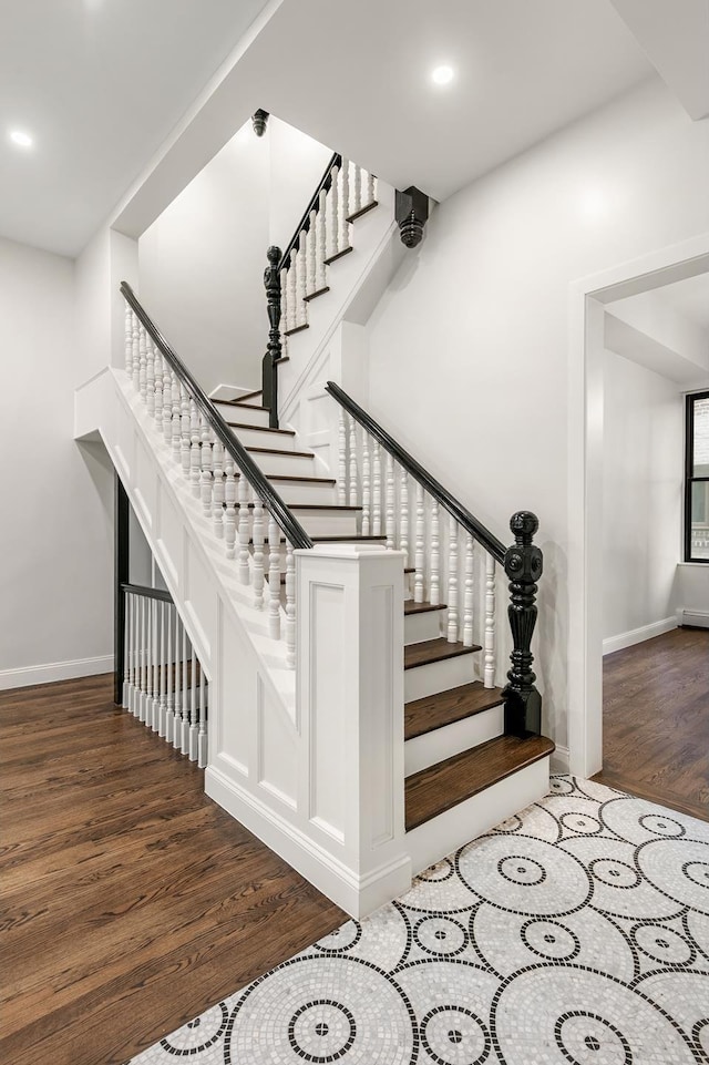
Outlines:
[[[3,7],[0,234],[69,255],[155,153],[150,206],[144,192],[126,232],[141,232],[257,106],[443,199],[653,71],[612,0]],[[232,49],[207,106],[183,117]],[[456,78],[436,90],[429,74],[442,62]],[[37,147],[9,145],[13,125]]]

